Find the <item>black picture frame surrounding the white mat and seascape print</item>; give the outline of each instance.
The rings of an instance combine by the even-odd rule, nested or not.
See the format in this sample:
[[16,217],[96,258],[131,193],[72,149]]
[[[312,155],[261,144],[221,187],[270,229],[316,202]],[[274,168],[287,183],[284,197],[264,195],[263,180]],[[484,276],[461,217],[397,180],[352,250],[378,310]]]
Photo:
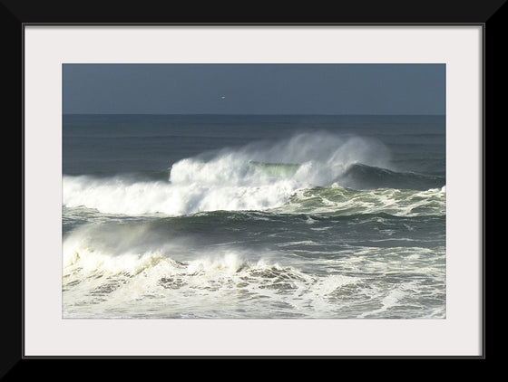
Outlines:
[[[314,6],[313,9],[295,9],[289,13],[272,8],[265,8],[257,4],[254,7],[245,5],[245,12],[239,14],[220,14],[219,10],[211,10],[215,5],[199,5],[200,9],[182,9],[183,6],[164,4],[164,2],[145,1],[142,5],[131,6],[122,2],[65,2],[62,0],[52,2],[36,2],[26,0],[0,0],[0,28],[4,41],[4,75],[10,79],[8,95],[5,100],[5,110],[13,120],[12,129],[19,131],[16,136],[21,142],[21,251],[9,253],[5,261],[5,276],[0,278],[1,290],[6,291],[6,307],[3,315],[4,329],[7,335],[3,336],[0,361],[0,378],[5,380],[22,380],[26,377],[29,368],[44,372],[51,370],[55,360],[67,361],[83,360],[90,358],[77,357],[52,357],[52,358],[26,358],[24,357],[24,26],[33,24],[44,25],[76,25],[76,24],[185,24],[185,25],[481,25],[483,27],[483,131],[482,131],[482,275],[483,275],[483,327],[482,327],[482,354],[478,357],[430,357],[430,358],[466,358],[476,361],[484,361],[485,349],[485,125],[487,120],[497,119],[502,110],[501,101],[493,97],[486,97],[485,81],[488,82],[489,94],[503,90],[505,81],[501,73],[503,50],[502,45],[505,34],[506,4],[505,0],[492,2],[474,1],[418,1],[407,2],[392,0],[385,2],[362,1],[344,2],[338,5],[340,12],[334,13],[327,8]],[[105,3],[105,4],[104,4]],[[332,6],[332,8],[334,8]],[[488,75],[487,74],[488,71]],[[486,100],[489,100],[488,107]],[[488,116],[486,115],[488,112]],[[19,127],[20,129],[17,130]],[[16,226],[17,228],[17,226]],[[18,231],[19,232],[19,231]],[[19,242],[18,242],[19,243]],[[18,255],[16,255],[18,254]],[[5,256],[7,257],[7,256]],[[95,357],[99,360],[131,360],[132,357]],[[142,357],[140,357],[142,358]],[[151,359],[151,357],[148,357]],[[237,359],[249,357],[204,357],[210,359]],[[256,357],[250,357],[256,358]],[[266,357],[285,359],[285,357]],[[298,358],[298,357],[288,357]],[[311,357],[303,357],[305,359]],[[330,358],[330,357],[326,357]],[[331,359],[357,359],[362,357],[331,357]],[[394,357],[375,357],[376,359],[393,359]],[[395,358],[427,358],[427,357],[395,357]],[[157,359],[157,358],[155,358]],[[168,357],[168,359],[201,359],[199,357]],[[362,359],[372,359],[363,357]],[[93,375],[92,371],[80,369],[85,375]],[[118,371],[118,370],[117,370]],[[127,371],[127,375],[128,370]],[[121,374],[118,375],[120,377]],[[51,374],[48,375],[51,377]]]

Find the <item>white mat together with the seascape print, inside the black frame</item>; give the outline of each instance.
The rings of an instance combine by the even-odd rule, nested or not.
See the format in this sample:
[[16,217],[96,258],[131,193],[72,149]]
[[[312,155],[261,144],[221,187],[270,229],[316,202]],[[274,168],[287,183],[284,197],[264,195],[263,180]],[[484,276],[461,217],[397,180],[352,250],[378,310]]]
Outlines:
[[484,358],[484,19],[21,26],[23,360]]

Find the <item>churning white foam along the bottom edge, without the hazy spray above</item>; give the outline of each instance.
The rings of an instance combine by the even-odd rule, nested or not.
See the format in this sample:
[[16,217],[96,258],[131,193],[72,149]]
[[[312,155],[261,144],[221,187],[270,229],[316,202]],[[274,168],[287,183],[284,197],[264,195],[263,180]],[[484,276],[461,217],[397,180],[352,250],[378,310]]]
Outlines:
[[[415,291],[432,292],[411,278],[393,284],[366,282],[365,269],[340,274],[342,262],[326,261],[334,272],[308,273],[298,263],[251,261],[233,249],[187,262],[149,253],[137,258],[82,253],[64,268],[64,312],[69,318],[252,319],[277,318],[278,311],[288,318],[289,309],[300,318],[382,318],[405,314],[405,299],[414,301]],[[368,266],[388,270],[381,259]],[[434,310],[428,314],[443,317]]]

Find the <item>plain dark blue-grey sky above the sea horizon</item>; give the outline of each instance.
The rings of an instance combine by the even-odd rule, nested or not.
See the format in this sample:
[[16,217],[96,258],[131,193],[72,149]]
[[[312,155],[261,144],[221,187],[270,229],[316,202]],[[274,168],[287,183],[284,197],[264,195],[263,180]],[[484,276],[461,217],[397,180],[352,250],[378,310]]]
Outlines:
[[64,64],[63,110],[445,114],[445,64]]

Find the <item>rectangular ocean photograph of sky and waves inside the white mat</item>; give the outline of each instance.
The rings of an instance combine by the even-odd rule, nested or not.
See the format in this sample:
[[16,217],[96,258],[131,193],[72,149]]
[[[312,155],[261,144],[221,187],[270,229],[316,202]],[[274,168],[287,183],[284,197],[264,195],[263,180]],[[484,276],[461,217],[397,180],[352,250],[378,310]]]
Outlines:
[[446,318],[445,64],[62,71],[64,319]]

